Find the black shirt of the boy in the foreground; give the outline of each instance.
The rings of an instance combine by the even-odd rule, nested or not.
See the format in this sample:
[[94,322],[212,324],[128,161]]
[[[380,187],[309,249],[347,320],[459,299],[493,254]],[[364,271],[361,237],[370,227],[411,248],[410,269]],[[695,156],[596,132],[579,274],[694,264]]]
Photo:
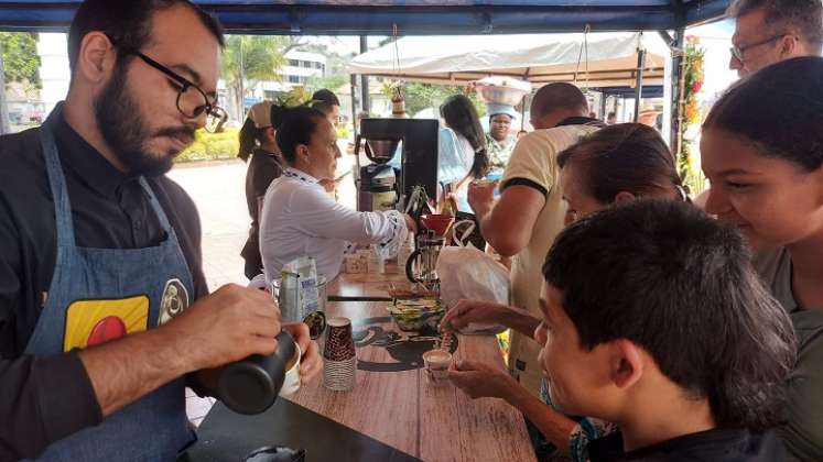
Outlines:
[[588,443],[592,462],[781,462],[788,459],[773,432],[715,428],[624,452],[622,435],[611,433]]

